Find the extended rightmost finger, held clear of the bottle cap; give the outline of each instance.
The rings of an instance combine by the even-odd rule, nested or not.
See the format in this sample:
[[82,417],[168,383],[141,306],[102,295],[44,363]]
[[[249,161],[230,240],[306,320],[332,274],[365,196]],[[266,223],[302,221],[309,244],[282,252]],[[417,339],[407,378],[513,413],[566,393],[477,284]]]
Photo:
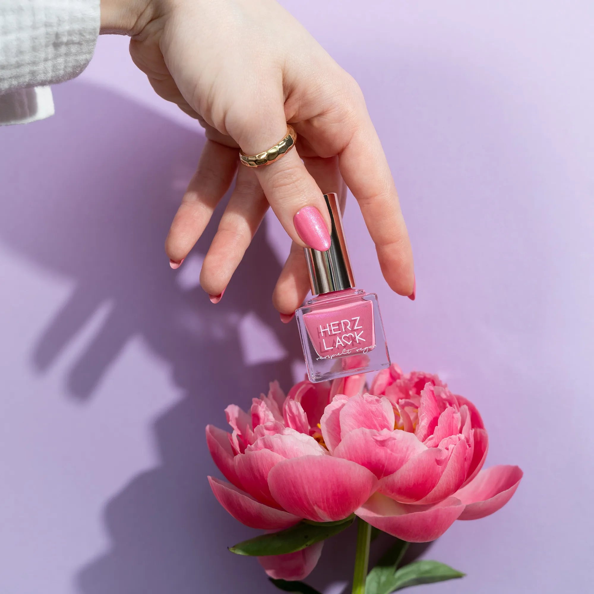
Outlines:
[[412,248],[386,155],[365,107],[353,117],[359,122],[339,154],[340,173],[359,203],[386,282],[414,299]]

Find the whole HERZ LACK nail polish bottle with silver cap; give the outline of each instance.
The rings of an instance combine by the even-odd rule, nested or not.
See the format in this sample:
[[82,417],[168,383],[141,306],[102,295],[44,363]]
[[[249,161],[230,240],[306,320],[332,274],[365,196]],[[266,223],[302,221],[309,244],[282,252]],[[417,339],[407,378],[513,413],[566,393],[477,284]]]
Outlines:
[[355,287],[336,194],[324,194],[332,221],[330,249],[305,248],[312,299],[295,317],[309,380],[334,380],[390,366],[375,293]]

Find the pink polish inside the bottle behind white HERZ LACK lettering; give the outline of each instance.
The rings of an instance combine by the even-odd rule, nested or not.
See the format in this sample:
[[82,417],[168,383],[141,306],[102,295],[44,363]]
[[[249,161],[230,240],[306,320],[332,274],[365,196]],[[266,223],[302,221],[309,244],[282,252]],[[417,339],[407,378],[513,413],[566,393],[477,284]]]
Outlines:
[[321,308],[303,319],[318,360],[366,353],[375,347],[371,301]]

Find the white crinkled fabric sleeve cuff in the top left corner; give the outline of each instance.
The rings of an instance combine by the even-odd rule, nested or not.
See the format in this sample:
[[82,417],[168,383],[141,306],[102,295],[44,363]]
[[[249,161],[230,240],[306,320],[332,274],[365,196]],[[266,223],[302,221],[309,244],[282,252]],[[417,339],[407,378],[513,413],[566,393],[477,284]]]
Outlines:
[[80,74],[99,23],[99,0],[0,0],[0,95]]

